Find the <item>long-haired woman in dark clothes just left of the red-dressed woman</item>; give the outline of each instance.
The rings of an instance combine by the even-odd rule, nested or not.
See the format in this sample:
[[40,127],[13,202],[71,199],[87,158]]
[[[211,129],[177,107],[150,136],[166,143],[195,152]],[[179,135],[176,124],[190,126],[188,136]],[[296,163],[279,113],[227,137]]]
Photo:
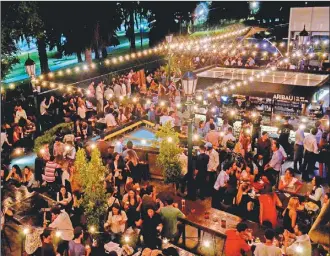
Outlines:
[[250,212],[253,210],[253,202],[248,195],[249,189],[250,187],[248,184],[241,184],[236,196],[237,213],[245,219],[250,219]]

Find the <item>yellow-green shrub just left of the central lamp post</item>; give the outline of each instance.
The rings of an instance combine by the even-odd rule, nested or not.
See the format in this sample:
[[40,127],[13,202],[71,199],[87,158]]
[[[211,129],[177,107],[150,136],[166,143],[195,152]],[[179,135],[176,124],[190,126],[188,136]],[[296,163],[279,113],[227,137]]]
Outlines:
[[167,122],[157,132],[156,137],[159,140],[159,155],[157,165],[162,169],[165,183],[176,183],[181,176],[181,165],[179,154],[181,149],[179,145],[179,135]]

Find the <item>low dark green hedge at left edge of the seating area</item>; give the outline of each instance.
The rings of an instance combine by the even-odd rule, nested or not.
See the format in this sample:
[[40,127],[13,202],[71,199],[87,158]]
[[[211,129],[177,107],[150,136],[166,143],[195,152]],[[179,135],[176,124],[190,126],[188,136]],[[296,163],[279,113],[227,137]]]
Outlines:
[[40,149],[48,144],[51,145],[55,141],[56,133],[63,130],[72,130],[73,129],[73,123],[61,123],[58,125],[55,125],[53,128],[45,131],[44,135],[39,136],[34,141],[34,148],[33,151],[38,153]]

